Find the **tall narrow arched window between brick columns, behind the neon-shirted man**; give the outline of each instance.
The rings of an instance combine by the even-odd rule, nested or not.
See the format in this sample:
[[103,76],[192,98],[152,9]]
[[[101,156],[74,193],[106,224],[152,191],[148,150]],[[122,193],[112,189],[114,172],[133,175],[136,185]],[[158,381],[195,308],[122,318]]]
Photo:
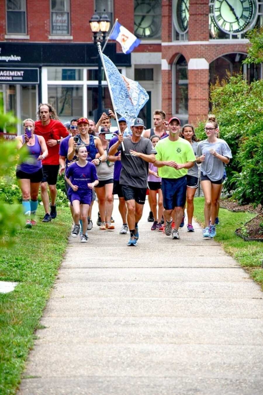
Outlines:
[[173,115],[182,125],[188,122],[188,66],[183,55],[173,64]]

